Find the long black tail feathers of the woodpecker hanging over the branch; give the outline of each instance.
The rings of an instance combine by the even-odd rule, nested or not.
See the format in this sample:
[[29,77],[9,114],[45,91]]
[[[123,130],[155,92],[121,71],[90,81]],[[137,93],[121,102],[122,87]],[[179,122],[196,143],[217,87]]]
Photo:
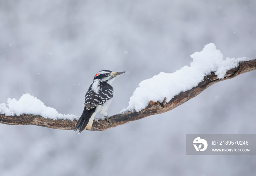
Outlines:
[[[75,128],[74,132],[76,132],[76,130],[79,129],[79,133],[81,133],[86,128],[87,125],[90,125],[89,121],[90,121],[90,118],[94,118],[91,116],[95,112],[95,109],[96,109],[96,107],[93,109],[90,109],[90,110],[86,110],[86,107],[84,107],[83,113],[76,123],[76,128]],[[91,120],[91,123],[92,122],[93,122],[93,120]],[[91,128],[91,126],[90,126],[90,128]],[[89,129],[89,128],[86,128],[86,129]]]

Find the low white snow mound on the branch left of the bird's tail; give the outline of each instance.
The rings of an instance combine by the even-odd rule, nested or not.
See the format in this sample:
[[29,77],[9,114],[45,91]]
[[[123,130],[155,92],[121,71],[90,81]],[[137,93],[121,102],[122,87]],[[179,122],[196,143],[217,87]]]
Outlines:
[[45,106],[44,103],[30,94],[23,94],[17,101],[15,98],[7,99],[6,107],[5,103],[0,103],[0,114],[5,116],[20,116],[20,114],[33,114],[40,115],[44,118],[51,118],[54,120],[78,120],[78,116],[73,114],[63,115],[59,114],[53,107]]

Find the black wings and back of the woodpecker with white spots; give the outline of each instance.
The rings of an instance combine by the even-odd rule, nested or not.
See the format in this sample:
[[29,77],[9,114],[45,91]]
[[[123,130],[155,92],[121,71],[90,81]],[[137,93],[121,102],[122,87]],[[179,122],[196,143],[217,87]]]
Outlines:
[[98,105],[102,105],[103,103],[105,103],[106,101],[108,101],[110,98],[113,97],[113,94],[114,94],[113,87],[110,86],[107,82],[105,81],[99,82],[98,93],[91,90],[91,86],[89,87],[89,90],[85,94],[84,105],[86,107],[86,110],[90,110]]

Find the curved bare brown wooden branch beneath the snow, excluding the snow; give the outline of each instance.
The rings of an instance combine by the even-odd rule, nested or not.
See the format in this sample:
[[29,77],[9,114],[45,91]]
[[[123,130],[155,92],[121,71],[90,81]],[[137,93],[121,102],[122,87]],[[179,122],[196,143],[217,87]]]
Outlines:
[[[166,102],[166,98],[161,103],[151,101],[145,109],[139,112],[133,111],[124,114],[115,114],[109,117],[112,122],[111,127],[109,122],[105,120],[98,122],[94,121],[92,128],[89,130],[102,131],[126,124],[128,122],[139,120],[147,116],[167,112],[200,94],[214,83],[234,78],[240,74],[253,70],[256,70],[256,59],[240,62],[238,67],[228,70],[223,79],[218,79],[217,75],[211,73],[210,75],[205,76],[204,80],[196,87],[174,96],[170,102]],[[75,128],[76,120],[52,120],[39,115],[31,114],[22,114],[20,116],[5,116],[4,114],[0,114],[0,123],[7,125],[38,125],[54,129],[71,130]]]

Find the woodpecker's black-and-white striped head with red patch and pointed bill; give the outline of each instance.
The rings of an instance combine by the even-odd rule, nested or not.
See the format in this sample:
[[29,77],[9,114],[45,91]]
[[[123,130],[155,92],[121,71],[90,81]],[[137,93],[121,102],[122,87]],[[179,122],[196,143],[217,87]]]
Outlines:
[[111,85],[112,81],[114,81],[114,79],[116,77],[118,77],[119,75],[121,75],[123,73],[125,73],[125,71],[114,72],[114,71],[110,71],[110,70],[101,70],[94,76],[93,82],[94,81],[106,81]]

